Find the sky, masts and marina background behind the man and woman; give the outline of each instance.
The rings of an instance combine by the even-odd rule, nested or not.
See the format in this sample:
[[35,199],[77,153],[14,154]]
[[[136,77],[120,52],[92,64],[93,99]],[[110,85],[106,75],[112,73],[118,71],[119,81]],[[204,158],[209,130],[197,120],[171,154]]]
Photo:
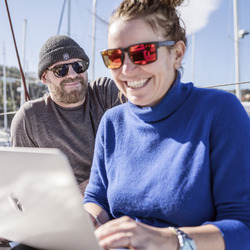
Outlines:
[[[8,0],[19,56],[32,99],[47,91],[46,86],[37,79],[37,64],[41,46],[52,35],[69,35],[85,49],[90,57],[89,80],[111,77],[102,62],[100,51],[107,48],[108,19],[120,2]],[[235,2],[238,14],[238,78]],[[182,81],[192,81],[198,87],[220,88],[235,94],[237,86],[240,86],[241,101],[250,113],[249,9],[250,1],[245,0],[186,0],[179,12],[188,32]],[[9,134],[12,117],[22,104],[22,89],[4,1],[0,2],[0,23],[0,131]],[[4,124],[4,68],[7,80],[7,129]]]

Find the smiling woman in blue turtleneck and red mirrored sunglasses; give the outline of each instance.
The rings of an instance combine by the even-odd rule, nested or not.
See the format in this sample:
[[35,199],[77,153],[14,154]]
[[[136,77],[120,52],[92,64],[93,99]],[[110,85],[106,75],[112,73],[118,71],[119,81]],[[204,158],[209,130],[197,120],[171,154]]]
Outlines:
[[100,123],[84,200],[105,249],[250,249],[250,119],[181,83],[182,2],[124,0],[110,20],[102,57],[128,102]]

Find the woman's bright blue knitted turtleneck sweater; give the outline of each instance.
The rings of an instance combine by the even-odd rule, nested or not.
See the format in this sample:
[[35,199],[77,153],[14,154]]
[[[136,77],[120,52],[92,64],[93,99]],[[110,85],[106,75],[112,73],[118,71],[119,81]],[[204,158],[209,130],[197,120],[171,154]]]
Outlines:
[[250,249],[250,119],[237,98],[179,79],[154,107],[100,123],[84,202],[156,227],[212,223]]

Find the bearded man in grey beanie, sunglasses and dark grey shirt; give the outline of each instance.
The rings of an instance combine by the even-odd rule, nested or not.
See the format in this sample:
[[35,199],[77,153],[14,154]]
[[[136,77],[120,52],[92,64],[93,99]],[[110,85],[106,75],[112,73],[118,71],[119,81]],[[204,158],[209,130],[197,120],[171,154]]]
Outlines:
[[64,152],[82,193],[100,119],[107,109],[120,103],[118,89],[110,79],[88,83],[88,66],[88,56],[73,39],[64,35],[49,38],[40,50],[38,63],[38,76],[49,93],[26,102],[11,124],[13,146]]

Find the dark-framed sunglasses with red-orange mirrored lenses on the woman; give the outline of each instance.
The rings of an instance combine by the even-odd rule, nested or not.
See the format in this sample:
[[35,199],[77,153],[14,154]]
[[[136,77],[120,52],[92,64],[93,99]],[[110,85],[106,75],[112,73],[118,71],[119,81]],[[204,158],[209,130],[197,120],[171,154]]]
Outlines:
[[103,62],[109,69],[118,69],[127,52],[130,60],[137,65],[145,65],[157,60],[157,49],[161,46],[173,46],[175,41],[149,42],[134,44],[127,48],[108,49],[101,52]]

